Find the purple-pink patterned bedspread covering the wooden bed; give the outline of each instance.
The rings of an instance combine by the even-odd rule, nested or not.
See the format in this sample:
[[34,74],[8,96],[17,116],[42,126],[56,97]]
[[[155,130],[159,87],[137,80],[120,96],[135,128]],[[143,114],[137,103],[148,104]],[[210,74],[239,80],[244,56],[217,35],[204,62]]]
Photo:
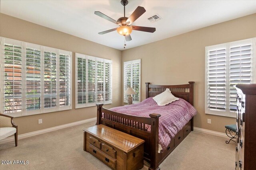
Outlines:
[[[149,117],[151,113],[160,114],[159,140],[162,149],[168,147],[171,139],[180,131],[188,121],[196,115],[196,109],[186,100],[179,99],[166,106],[158,106],[152,98],[147,98],[139,104],[114,107],[110,110],[127,115]],[[150,127],[150,126],[148,126]],[[150,132],[150,128],[147,131]]]

